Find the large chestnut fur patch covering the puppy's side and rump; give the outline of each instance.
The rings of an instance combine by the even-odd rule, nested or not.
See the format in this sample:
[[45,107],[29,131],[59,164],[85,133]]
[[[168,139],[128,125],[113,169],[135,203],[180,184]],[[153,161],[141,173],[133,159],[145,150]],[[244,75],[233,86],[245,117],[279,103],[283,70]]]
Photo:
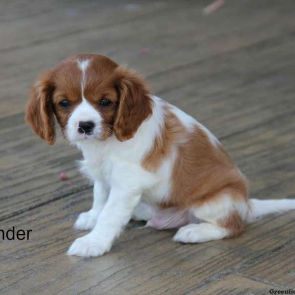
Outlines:
[[170,203],[177,207],[200,206],[226,188],[246,197],[244,179],[224,148],[213,146],[199,126],[186,136],[173,168]]

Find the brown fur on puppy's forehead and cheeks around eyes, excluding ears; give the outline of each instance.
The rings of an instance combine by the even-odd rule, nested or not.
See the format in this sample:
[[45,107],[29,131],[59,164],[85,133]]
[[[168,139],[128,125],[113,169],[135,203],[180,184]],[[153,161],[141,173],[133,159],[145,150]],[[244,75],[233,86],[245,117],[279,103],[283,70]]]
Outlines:
[[[82,62],[88,62],[84,72],[80,67]],[[91,54],[70,57],[56,67],[54,103],[62,131],[72,111],[84,97],[103,118],[104,132],[100,139],[104,140],[112,135],[118,107],[118,93],[114,83],[114,71],[117,67],[118,64],[113,60]],[[69,101],[70,108],[65,109],[59,105],[59,101],[64,98]],[[112,104],[102,107],[99,104],[102,99],[111,100]]]

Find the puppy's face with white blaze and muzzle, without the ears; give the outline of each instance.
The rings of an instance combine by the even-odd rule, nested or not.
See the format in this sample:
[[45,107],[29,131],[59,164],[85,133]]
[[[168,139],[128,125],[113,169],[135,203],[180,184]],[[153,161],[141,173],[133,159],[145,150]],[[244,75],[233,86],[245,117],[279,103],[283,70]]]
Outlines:
[[104,140],[112,135],[118,110],[117,64],[110,59],[68,60],[54,71],[53,106],[71,142]]

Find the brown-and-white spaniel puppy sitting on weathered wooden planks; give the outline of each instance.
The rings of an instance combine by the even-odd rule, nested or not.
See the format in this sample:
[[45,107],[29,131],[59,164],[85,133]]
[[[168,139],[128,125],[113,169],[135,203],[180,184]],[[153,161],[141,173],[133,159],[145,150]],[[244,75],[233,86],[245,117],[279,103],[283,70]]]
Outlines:
[[246,178],[217,138],[107,57],[69,57],[37,80],[26,121],[49,145],[55,118],[64,138],[81,149],[81,171],[94,182],[93,206],[75,223],[91,232],[68,255],[103,255],[131,218],[178,228],[177,242],[200,243],[295,208],[295,200],[249,200]]

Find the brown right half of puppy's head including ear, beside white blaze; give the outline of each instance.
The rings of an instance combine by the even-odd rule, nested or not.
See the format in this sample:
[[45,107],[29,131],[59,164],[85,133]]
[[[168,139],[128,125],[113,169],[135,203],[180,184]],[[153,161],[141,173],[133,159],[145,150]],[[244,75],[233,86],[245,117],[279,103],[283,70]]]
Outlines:
[[[132,138],[152,113],[152,100],[144,80],[106,57],[90,56],[88,59],[84,97],[103,118],[104,134],[100,139],[112,134],[119,141]],[[103,99],[111,104],[101,106],[99,102]]]

